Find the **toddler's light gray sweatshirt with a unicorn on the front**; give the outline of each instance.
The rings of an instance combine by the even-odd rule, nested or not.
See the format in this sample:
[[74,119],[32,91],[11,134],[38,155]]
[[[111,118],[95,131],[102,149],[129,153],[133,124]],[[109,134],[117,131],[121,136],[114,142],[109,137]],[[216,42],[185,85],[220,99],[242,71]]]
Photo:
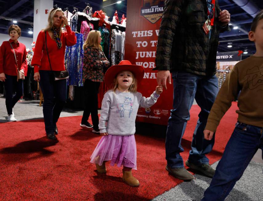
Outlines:
[[139,106],[148,108],[157,101],[159,95],[153,92],[149,98],[141,93],[124,93],[109,90],[102,100],[102,111],[99,121],[100,133],[111,135],[133,135],[135,119]]

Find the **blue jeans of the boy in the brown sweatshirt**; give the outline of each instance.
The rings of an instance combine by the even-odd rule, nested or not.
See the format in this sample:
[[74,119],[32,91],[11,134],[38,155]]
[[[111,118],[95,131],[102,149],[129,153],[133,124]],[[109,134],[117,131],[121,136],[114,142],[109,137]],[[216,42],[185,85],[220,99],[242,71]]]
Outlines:
[[225,200],[259,148],[263,150],[263,127],[237,123],[202,201]]

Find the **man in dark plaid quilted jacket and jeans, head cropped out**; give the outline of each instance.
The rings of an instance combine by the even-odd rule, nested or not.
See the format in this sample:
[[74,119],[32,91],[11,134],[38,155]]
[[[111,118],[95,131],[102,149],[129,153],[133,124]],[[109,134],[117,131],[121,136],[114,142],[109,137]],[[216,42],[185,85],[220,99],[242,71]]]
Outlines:
[[216,54],[219,33],[230,30],[230,14],[221,11],[218,0],[166,0],[157,42],[157,82],[166,89],[173,77],[173,110],[166,132],[166,170],[174,177],[191,180],[180,153],[181,138],[189,110],[196,100],[201,112],[193,133],[186,165],[213,177],[214,169],[206,157],[214,144],[204,140],[203,131],[218,92]]

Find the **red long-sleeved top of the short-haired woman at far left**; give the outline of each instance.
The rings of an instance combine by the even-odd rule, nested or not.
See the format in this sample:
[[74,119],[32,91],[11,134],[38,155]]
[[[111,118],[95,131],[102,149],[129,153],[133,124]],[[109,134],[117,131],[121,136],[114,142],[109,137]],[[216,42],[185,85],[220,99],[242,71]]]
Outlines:
[[[15,51],[17,64],[15,62],[14,51],[12,50],[9,42]],[[14,41],[11,39],[9,42],[4,41],[0,47],[0,73],[16,76],[18,67],[19,70],[23,69],[26,75],[26,46],[21,42],[14,44]]]

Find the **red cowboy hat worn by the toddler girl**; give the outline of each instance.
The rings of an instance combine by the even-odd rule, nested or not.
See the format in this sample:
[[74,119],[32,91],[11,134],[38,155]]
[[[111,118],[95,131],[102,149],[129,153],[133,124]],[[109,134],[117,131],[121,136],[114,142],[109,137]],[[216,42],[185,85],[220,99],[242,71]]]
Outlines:
[[122,71],[131,71],[137,82],[141,82],[144,76],[144,68],[138,65],[132,65],[128,60],[122,60],[118,65],[111,66],[105,73],[104,82],[108,87],[114,82],[117,74]]

